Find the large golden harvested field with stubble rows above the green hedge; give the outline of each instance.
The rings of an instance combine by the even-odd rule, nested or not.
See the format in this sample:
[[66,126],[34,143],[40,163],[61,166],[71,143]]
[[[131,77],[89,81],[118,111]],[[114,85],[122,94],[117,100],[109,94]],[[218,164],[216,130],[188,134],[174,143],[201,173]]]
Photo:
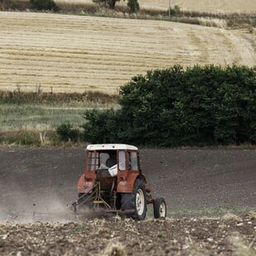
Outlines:
[[248,31],[50,13],[0,12],[0,90],[117,93],[173,64],[256,63]]

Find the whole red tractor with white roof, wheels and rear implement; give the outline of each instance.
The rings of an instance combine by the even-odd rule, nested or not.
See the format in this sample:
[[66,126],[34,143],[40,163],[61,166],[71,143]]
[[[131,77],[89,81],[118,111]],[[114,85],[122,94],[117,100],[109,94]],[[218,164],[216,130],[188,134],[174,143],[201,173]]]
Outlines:
[[83,206],[92,211],[124,214],[144,220],[147,205],[153,204],[154,217],[165,217],[163,197],[152,198],[140,169],[138,148],[133,145],[88,145],[85,173],[78,181],[78,200],[73,211]]

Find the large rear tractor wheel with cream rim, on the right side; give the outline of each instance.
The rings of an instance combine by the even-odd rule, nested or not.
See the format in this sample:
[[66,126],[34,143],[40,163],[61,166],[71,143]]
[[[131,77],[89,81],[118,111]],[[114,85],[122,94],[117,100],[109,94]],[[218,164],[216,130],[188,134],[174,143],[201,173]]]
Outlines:
[[136,179],[132,193],[121,194],[121,210],[134,210],[126,214],[134,220],[145,220],[147,213],[145,183],[141,179]]

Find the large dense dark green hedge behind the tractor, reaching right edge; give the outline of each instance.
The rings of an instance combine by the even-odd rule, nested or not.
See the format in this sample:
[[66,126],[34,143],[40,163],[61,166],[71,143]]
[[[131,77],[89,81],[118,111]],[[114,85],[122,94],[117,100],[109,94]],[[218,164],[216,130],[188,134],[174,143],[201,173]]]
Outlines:
[[256,66],[148,71],[121,87],[120,110],[87,111],[85,140],[135,145],[256,143]]

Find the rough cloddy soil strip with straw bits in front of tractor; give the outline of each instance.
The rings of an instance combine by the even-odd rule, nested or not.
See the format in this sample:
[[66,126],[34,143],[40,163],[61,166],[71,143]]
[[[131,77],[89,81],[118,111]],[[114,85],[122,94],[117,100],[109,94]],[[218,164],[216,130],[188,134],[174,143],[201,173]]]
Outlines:
[[221,219],[0,224],[0,254],[253,256],[255,228],[255,214]]

